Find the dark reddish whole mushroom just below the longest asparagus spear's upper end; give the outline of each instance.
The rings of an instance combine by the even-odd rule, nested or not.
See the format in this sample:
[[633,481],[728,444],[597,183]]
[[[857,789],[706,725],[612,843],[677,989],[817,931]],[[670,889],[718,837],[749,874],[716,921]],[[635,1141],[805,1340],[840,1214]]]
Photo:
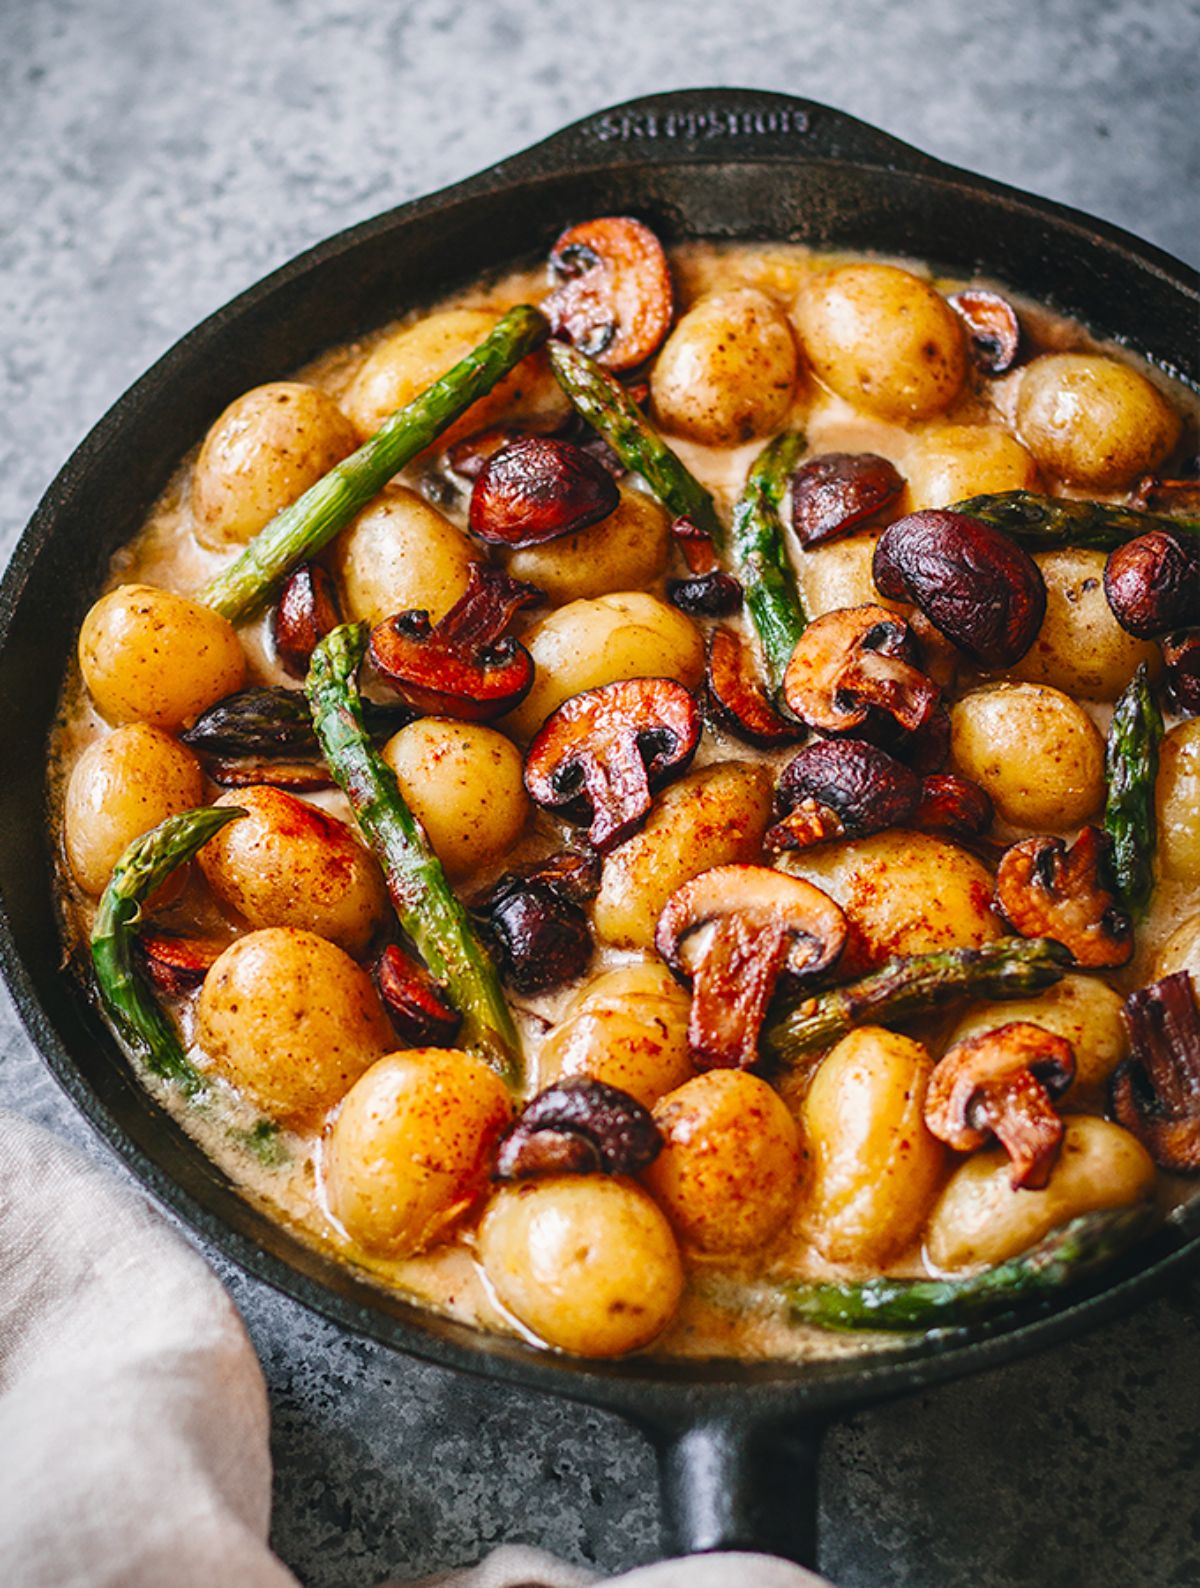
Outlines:
[[468,524],[492,546],[540,546],[608,518],[619,500],[616,480],[581,446],[527,435],[479,470]]

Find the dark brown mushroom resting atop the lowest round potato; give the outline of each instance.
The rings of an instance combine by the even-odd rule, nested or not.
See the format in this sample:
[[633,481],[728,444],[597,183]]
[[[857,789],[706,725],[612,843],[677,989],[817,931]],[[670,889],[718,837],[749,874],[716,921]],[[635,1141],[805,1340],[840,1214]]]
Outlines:
[[535,1175],[635,1175],[662,1150],[648,1108],[629,1093],[587,1077],[538,1093],[500,1137],[495,1180]]

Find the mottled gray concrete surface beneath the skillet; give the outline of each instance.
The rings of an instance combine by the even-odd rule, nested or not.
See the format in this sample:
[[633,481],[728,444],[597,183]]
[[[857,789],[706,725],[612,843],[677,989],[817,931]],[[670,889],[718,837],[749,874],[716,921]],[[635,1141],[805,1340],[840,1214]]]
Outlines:
[[[1195,0],[0,0],[0,556],[200,316],[586,111],[790,89],[1200,264],[1198,73]],[[105,1156],[6,1002],[0,1100]],[[656,1555],[632,1429],[398,1359],[217,1267],[271,1385],[275,1544],[310,1588],[506,1539],[605,1569]],[[822,1566],[843,1588],[1198,1583],[1198,1324],[1181,1288],[841,1424]]]

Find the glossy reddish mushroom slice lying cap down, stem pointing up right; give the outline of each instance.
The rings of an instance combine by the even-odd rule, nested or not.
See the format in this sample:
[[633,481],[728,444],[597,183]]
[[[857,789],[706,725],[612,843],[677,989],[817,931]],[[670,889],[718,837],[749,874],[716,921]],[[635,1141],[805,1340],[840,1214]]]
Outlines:
[[465,596],[437,627],[427,611],[381,622],[371,632],[371,662],[417,711],[490,723],[530,691],[533,659],[505,629],[540,600],[532,584],[475,562]]

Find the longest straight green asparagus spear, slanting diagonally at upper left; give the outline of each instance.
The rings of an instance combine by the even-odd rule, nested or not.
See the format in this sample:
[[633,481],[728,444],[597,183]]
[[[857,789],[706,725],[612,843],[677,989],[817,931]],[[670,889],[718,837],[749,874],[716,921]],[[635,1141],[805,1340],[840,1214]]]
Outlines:
[[357,453],[337,464],[251,540],[229,569],[200,591],[222,618],[244,618],[297,562],[316,556],[417,453],[424,453],[473,402],[538,348],[546,318],[527,303],[510,310],[492,332],[441,380],[387,419]]

